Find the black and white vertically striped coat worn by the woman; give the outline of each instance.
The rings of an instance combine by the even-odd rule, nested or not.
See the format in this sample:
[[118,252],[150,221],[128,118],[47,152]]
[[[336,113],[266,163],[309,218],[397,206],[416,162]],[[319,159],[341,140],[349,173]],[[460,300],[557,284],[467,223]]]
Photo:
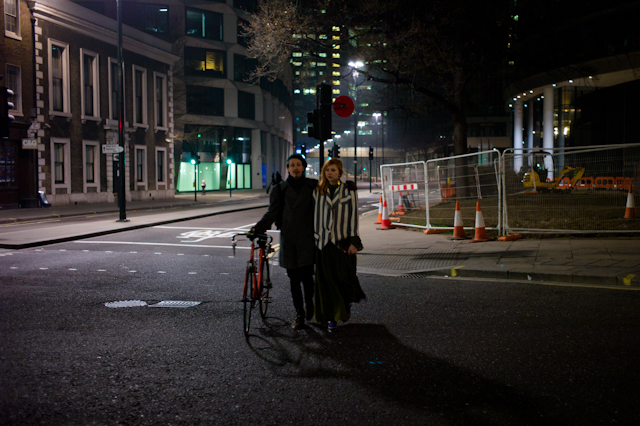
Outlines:
[[358,196],[341,182],[333,198],[329,190],[320,195],[318,188],[313,191],[315,203],[313,225],[316,247],[320,250],[329,242],[336,246],[338,241],[359,236]]

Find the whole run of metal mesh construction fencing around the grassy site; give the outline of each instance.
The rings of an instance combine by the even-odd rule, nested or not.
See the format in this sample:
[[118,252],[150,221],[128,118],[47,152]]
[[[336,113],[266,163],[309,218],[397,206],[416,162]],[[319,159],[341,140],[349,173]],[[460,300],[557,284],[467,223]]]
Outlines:
[[380,175],[400,226],[453,229],[457,203],[465,229],[479,205],[499,235],[640,232],[624,218],[640,193],[640,144],[483,151],[382,165]]

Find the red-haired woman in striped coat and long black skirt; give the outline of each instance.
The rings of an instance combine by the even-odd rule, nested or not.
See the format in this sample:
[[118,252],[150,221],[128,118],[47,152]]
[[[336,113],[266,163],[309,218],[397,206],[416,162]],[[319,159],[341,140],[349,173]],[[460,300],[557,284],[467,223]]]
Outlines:
[[362,250],[358,235],[358,196],[340,181],[342,161],[327,161],[313,191],[316,239],[315,317],[335,329],[347,321],[351,304],[366,298],[356,275],[356,253]]

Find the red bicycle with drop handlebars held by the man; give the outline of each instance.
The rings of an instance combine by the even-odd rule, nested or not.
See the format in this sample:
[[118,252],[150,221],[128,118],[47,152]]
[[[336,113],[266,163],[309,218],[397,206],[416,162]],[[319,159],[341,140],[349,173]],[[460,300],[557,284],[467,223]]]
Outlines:
[[[244,288],[242,290],[243,325],[245,336],[249,335],[251,326],[251,311],[256,306],[260,307],[260,316],[264,320],[267,316],[269,303],[269,290],[271,290],[271,275],[269,273],[269,255],[274,252],[271,247],[273,237],[264,234],[241,233],[231,237],[233,255],[236,254],[236,237],[243,235],[251,239],[251,250],[244,275]],[[256,251],[258,255],[256,256]]]

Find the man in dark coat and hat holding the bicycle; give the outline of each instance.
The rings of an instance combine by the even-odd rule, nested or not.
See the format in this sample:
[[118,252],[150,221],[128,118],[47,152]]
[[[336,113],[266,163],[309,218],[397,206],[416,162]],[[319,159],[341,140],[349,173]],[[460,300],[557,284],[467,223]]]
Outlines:
[[286,268],[291,283],[296,310],[291,324],[294,329],[303,327],[305,319],[313,317],[313,190],[318,181],[304,175],[306,168],[307,161],[302,155],[287,158],[289,177],[273,188],[269,209],[252,228],[252,232],[264,234],[275,223],[280,229],[280,266]]

